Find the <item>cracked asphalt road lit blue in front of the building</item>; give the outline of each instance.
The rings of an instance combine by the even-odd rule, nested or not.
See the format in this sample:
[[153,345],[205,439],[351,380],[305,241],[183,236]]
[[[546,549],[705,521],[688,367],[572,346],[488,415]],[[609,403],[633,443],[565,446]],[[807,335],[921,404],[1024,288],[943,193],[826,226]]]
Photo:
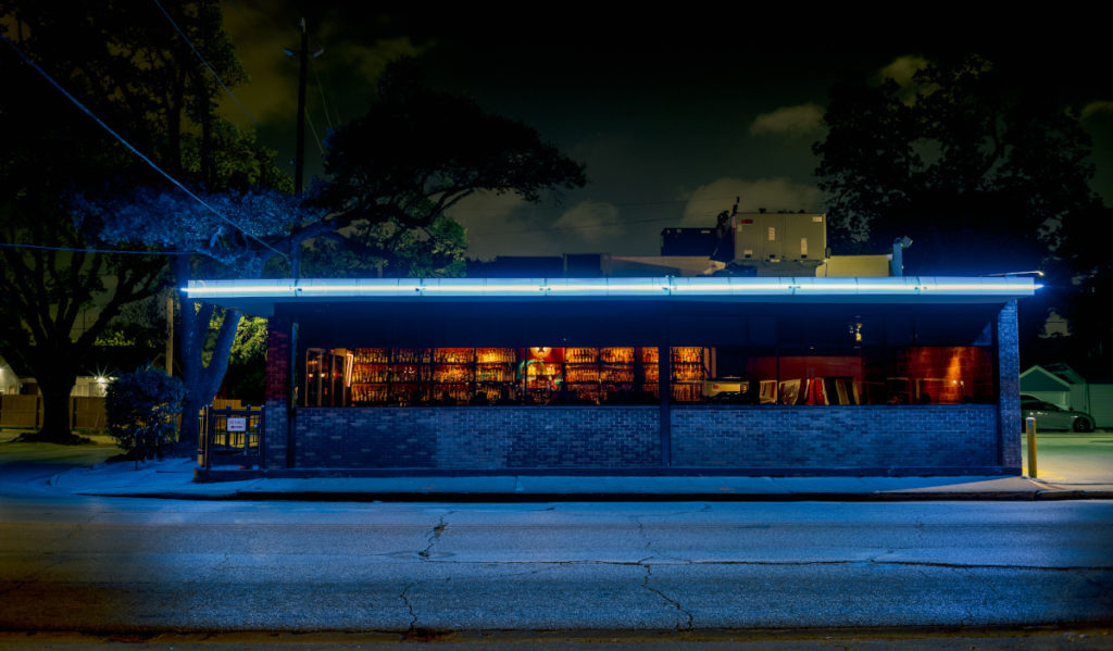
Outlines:
[[6,496],[0,630],[1100,625],[1113,503]]

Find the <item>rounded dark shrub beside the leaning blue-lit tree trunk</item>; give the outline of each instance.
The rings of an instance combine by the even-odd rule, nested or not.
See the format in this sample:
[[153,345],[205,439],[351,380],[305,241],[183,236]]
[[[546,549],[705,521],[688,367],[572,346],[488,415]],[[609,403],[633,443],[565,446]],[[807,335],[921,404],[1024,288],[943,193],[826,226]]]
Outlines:
[[151,365],[124,373],[108,385],[108,432],[137,461],[161,454],[177,438],[178,415],[186,397],[181,381]]

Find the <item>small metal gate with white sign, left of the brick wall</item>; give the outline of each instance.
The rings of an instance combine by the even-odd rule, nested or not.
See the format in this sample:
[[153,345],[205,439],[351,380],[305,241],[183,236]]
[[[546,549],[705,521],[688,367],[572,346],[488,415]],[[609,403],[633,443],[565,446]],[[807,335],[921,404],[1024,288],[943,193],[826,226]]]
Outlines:
[[205,470],[214,465],[263,468],[263,407],[216,410],[207,405],[200,413],[197,463]]

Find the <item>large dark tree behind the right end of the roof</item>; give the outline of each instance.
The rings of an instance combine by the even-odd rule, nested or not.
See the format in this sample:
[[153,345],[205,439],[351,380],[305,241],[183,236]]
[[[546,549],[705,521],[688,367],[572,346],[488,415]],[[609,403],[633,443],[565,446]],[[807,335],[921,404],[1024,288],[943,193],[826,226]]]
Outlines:
[[839,83],[825,120],[814,149],[833,240],[884,251],[910,236],[912,273],[1038,268],[1093,203],[1089,137],[1007,61],[936,61],[907,88]]

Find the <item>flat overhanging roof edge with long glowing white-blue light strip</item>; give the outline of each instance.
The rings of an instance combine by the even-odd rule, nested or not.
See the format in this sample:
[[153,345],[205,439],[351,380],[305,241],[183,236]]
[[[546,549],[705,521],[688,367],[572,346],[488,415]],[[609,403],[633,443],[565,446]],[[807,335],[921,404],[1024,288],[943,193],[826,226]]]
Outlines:
[[344,302],[651,300],[730,303],[1003,303],[1040,288],[1020,277],[283,278],[190,280],[186,297],[273,314],[277,304]]

